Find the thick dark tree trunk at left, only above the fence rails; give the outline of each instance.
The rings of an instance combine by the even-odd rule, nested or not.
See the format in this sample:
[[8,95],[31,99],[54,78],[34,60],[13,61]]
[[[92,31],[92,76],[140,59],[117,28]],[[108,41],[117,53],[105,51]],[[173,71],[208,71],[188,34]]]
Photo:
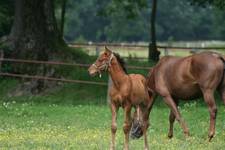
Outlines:
[[64,45],[57,28],[53,0],[16,0],[14,23],[9,36],[17,58],[48,60]]

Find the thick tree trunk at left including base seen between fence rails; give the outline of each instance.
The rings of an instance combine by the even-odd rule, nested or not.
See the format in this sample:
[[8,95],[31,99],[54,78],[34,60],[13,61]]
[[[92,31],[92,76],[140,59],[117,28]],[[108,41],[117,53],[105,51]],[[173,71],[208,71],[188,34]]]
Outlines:
[[[8,45],[13,51],[11,57],[45,61],[58,58],[59,47],[65,47],[66,44],[57,27],[54,0],[15,0],[14,4],[14,22],[8,38]],[[54,71],[43,66],[13,66],[13,71],[17,73],[42,76],[54,74]],[[31,91],[39,93],[49,84],[41,80],[32,80],[31,85]]]

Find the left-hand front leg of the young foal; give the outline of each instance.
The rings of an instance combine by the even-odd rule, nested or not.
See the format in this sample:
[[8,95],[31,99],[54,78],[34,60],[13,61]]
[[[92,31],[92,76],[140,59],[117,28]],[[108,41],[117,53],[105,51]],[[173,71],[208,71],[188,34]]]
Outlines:
[[116,106],[116,104],[114,103],[111,103],[111,112],[112,112],[112,125],[111,125],[112,140],[111,140],[110,150],[114,150],[115,136],[116,136],[116,130],[117,130],[116,118],[117,118],[117,112],[118,112],[118,106]]

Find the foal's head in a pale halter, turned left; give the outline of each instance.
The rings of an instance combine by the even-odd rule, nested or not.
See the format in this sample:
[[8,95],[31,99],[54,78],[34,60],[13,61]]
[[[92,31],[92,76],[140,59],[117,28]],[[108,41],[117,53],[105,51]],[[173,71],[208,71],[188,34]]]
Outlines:
[[105,46],[105,51],[102,54],[100,54],[97,60],[88,68],[89,74],[91,76],[99,74],[99,76],[101,77],[101,72],[108,70],[112,58],[113,52]]

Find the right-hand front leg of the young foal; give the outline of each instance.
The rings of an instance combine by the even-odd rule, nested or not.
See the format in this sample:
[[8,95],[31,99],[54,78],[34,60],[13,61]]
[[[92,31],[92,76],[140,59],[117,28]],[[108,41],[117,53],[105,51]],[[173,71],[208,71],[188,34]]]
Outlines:
[[131,129],[131,105],[126,105],[124,107],[124,124],[123,124],[123,132],[124,132],[124,150],[129,149],[129,133]]

